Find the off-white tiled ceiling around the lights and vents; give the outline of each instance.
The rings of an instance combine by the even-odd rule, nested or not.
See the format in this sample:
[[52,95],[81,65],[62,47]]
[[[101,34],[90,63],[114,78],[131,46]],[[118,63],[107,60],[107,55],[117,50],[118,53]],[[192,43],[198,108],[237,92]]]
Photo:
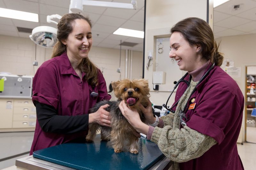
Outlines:
[[[131,2],[131,0],[100,1]],[[36,26],[56,27],[55,24],[46,22],[46,16],[68,13],[69,4],[70,0],[0,0],[1,8],[39,14],[38,23],[0,17],[0,34],[28,38],[30,34],[18,32],[17,26],[32,29]],[[236,11],[232,10],[232,7],[238,4],[240,4],[240,8]],[[84,14],[88,14],[93,22],[93,46],[119,49],[120,40],[122,40],[122,42],[138,43],[134,47],[122,46],[122,49],[143,51],[143,39],[113,34],[119,27],[143,31],[144,0],[137,0],[137,5],[137,10],[84,6]],[[214,8],[213,32],[215,38],[256,33],[255,13],[256,0],[229,0]]]

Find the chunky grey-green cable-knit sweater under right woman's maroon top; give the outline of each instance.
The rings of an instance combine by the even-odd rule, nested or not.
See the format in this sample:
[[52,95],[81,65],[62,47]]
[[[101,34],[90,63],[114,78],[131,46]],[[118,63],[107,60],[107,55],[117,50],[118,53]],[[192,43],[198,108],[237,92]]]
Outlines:
[[212,137],[190,129],[188,126],[180,129],[179,112],[184,108],[197,82],[191,80],[188,89],[181,96],[174,114],[162,116],[164,127],[155,127],[151,141],[158,144],[164,155],[174,161],[173,170],[179,170],[179,162],[187,162],[198,158],[217,144]]

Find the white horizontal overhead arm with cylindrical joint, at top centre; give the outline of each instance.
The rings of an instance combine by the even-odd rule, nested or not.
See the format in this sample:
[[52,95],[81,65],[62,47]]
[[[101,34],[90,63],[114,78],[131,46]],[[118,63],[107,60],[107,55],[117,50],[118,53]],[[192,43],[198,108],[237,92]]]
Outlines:
[[118,3],[118,2],[92,1],[92,0],[70,0],[69,11],[73,13],[81,13],[83,11],[83,5],[134,9],[134,10],[137,9],[136,0],[132,0],[131,4]]

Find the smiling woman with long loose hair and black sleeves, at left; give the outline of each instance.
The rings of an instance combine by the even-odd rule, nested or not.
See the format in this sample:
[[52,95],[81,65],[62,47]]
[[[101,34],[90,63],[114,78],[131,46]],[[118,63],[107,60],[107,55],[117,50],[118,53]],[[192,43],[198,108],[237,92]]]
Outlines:
[[52,59],[38,68],[33,80],[37,122],[30,155],[57,144],[85,142],[91,123],[110,126],[104,110],[108,105],[89,114],[97,102],[111,98],[101,71],[88,58],[91,28],[89,18],[75,13],[58,23]]

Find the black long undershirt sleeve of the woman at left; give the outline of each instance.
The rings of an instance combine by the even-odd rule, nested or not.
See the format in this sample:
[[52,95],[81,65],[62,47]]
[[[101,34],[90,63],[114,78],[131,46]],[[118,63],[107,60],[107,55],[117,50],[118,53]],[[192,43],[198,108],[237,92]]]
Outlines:
[[86,130],[89,114],[76,116],[57,115],[57,110],[50,105],[35,101],[36,116],[44,132],[70,134]]

